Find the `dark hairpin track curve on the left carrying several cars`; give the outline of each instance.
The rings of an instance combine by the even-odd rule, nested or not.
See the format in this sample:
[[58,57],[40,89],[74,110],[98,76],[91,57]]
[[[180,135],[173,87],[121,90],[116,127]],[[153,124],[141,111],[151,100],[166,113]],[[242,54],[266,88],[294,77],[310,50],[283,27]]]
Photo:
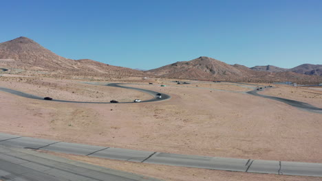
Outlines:
[[[107,84],[106,86],[138,90],[138,91],[141,91],[143,93],[147,93],[147,94],[153,96],[152,99],[148,99],[148,100],[141,101],[141,102],[163,101],[163,100],[167,100],[167,99],[171,98],[170,95],[163,94],[163,93],[160,93],[160,94],[162,94],[162,97],[158,98],[158,96],[157,96],[158,92],[155,92],[153,90],[146,90],[146,89],[143,89],[143,88],[133,88],[133,87],[123,86],[123,85],[124,84],[112,83],[112,84]],[[28,93],[23,93],[23,92],[18,91],[18,90],[12,90],[10,88],[0,87],[0,90],[3,91],[3,92],[6,92],[6,93],[13,94],[13,95],[18,95],[18,96],[21,96],[21,97],[26,97],[26,98],[30,98],[30,99],[44,100],[43,97],[39,97],[37,95],[31,95],[31,94],[28,94]],[[51,101],[68,102],[68,103],[85,103],[85,104],[115,104],[115,103],[110,103],[110,102],[66,101],[66,100],[59,100],[59,99],[52,99]],[[132,101],[131,102],[119,102],[118,104],[129,104],[129,103],[134,103],[134,102],[132,102]],[[136,103],[136,104],[138,104],[138,103]]]

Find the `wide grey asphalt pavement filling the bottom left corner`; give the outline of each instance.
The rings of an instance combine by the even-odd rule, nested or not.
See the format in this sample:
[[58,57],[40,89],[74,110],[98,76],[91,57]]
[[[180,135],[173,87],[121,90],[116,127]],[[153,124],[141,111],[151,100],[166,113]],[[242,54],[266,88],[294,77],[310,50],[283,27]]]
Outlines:
[[156,179],[59,158],[29,149],[0,145],[0,180],[152,181]]

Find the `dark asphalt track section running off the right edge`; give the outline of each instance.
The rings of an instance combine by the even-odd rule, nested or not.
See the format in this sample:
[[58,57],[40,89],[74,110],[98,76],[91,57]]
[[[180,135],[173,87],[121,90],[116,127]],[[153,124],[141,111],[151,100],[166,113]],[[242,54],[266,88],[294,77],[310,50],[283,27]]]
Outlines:
[[[264,88],[262,88],[264,89]],[[307,111],[310,111],[310,112],[317,112],[317,113],[322,113],[322,108],[317,108],[315,106],[312,106],[310,104],[307,104],[305,102],[301,102],[301,101],[294,101],[294,100],[291,100],[291,99],[284,99],[284,98],[281,98],[281,97],[273,97],[273,96],[269,96],[269,95],[260,95],[259,91],[262,91],[262,90],[251,90],[251,91],[248,91],[247,93],[250,94],[250,95],[255,95],[255,96],[259,96],[259,97],[264,97],[264,98],[268,98],[268,99],[273,99],[273,100],[276,100],[276,101],[281,101],[285,104],[288,104],[290,106],[294,106],[295,108],[299,108],[301,110],[307,110]]]

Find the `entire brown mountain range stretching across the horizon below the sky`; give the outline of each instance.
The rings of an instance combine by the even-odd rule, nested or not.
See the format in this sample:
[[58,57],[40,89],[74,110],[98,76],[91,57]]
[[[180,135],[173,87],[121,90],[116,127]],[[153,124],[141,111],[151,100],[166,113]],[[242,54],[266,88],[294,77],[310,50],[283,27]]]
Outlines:
[[201,56],[194,60],[174,62],[158,69],[142,71],[116,67],[89,59],[72,60],[58,56],[30,38],[19,37],[0,43],[0,68],[18,68],[32,71],[52,71],[66,75],[107,77],[150,76],[197,80],[226,80],[244,82],[314,82],[311,75],[322,75],[321,64],[302,64],[292,69],[272,65],[252,68],[240,64],[226,64],[214,58]]

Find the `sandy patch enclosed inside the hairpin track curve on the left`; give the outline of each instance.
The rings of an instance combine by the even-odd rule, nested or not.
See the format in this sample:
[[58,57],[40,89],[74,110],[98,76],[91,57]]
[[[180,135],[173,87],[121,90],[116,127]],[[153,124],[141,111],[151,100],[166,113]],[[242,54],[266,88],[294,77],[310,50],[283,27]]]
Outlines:
[[[83,84],[81,81],[54,80],[45,77],[0,77],[0,86],[41,97],[49,96],[69,101],[109,102],[111,99],[133,101],[134,99],[153,98],[151,95],[125,88],[107,88],[107,86]],[[127,97],[123,97],[123,95],[127,95]]]

